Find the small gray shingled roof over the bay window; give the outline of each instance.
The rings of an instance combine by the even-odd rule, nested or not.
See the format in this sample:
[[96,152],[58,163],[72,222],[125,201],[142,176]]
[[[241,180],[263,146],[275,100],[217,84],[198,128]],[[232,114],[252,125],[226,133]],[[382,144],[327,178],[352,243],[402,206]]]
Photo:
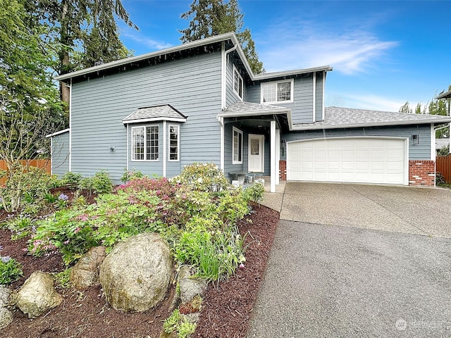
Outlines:
[[185,122],[186,116],[180,113],[170,104],[163,104],[161,106],[150,106],[137,108],[136,111],[128,115],[122,120],[124,125],[129,123],[143,123],[152,121],[174,121]]

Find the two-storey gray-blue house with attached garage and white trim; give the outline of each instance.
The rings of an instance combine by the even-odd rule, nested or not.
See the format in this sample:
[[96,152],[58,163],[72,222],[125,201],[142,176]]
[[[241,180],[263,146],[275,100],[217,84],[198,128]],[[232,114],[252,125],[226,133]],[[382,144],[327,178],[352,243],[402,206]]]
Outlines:
[[194,162],[279,180],[434,185],[443,116],[326,108],[328,65],[255,75],[233,33],[56,77],[70,127],[52,172],[164,177]]

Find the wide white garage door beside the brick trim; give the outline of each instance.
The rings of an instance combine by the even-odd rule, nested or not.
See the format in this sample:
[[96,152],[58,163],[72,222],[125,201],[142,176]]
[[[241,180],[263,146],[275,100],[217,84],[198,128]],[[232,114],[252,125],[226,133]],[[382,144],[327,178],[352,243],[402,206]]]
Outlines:
[[287,180],[408,184],[407,142],[344,137],[287,143]]

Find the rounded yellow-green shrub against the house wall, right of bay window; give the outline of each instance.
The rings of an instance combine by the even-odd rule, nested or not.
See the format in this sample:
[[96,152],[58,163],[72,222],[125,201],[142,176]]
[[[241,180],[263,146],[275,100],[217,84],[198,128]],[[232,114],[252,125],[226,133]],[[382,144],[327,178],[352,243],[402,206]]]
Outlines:
[[182,173],[173,180],[189,185],[190,189],[200,192],[218,193],[228,187],[224,173],[214,163],[193,163],[186,165]]

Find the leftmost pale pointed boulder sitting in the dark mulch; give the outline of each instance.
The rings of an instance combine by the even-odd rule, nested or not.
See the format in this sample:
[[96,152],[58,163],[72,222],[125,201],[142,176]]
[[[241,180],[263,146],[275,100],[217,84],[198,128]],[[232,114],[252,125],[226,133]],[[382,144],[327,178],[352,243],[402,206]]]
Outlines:
[[14,296],[14,301],[28,318],[36,318],[61,304],[63,297],[55,291],[52,275],[37,271],[23,283]]

